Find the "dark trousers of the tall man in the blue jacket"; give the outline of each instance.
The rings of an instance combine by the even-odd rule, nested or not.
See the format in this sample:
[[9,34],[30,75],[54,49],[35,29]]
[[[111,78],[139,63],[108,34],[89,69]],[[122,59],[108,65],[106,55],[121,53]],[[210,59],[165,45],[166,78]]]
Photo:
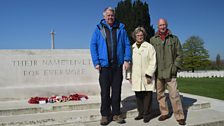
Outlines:
[[99,82],[101,88],[100,113],[102,116],[120,115],[122,80],[122,65],[101,68]]

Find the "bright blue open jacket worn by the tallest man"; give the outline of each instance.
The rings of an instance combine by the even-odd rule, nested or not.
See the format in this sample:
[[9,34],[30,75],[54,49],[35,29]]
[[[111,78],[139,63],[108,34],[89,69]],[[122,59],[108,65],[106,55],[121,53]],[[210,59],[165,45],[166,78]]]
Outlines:
[[[102,32],[102,23],[112,30],[112,28],[103,19],[97,25],[90,42],[90,52],[93,65],[108,67],[108,51],[105,35]],[[119,25],[117,29],[117,61],[118,65],[122,65],[124,61],[131,61],[131,47],[124,24],[115,21],[113,26]]]

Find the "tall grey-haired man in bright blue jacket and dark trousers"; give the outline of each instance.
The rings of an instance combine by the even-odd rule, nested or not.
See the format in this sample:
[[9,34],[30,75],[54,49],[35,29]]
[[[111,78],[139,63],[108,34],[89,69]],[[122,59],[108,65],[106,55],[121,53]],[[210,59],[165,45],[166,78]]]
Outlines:
[[123,66],[125,70],[129,68],[131,47],[124,24],[115,19],[115,10],[108,7],[103,16],[104,19],[97,25],[90,42],[92,62],[99,71],[102,115],[100,124],[109,124],[111,115],[113,121],[121,124],[125,123],[120,116]]

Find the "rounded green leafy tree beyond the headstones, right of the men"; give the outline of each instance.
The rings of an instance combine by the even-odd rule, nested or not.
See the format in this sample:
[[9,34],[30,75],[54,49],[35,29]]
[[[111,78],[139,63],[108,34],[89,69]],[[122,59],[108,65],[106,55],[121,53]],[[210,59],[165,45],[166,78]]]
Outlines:
[[208,51],[204,41],[198,36],[191,36],[183,44],[183,65],[186,70],[206,69],[210,65]]

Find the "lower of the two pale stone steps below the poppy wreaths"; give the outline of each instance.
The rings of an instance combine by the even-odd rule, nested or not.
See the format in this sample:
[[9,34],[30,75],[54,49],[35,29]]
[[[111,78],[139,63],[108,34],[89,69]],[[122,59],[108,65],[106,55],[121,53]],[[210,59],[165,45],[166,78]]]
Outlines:
[[[130,104],[129,104],[130,105]],[[136,108],[121,109],[124,118],[136,116]],[[101,118],[99,108],[71,111],[55,111],[48,113],[21,114],[0,116],[0,126],[40,126],[40,125],[65,125],[69,123],[89,123],[99,121]]]

